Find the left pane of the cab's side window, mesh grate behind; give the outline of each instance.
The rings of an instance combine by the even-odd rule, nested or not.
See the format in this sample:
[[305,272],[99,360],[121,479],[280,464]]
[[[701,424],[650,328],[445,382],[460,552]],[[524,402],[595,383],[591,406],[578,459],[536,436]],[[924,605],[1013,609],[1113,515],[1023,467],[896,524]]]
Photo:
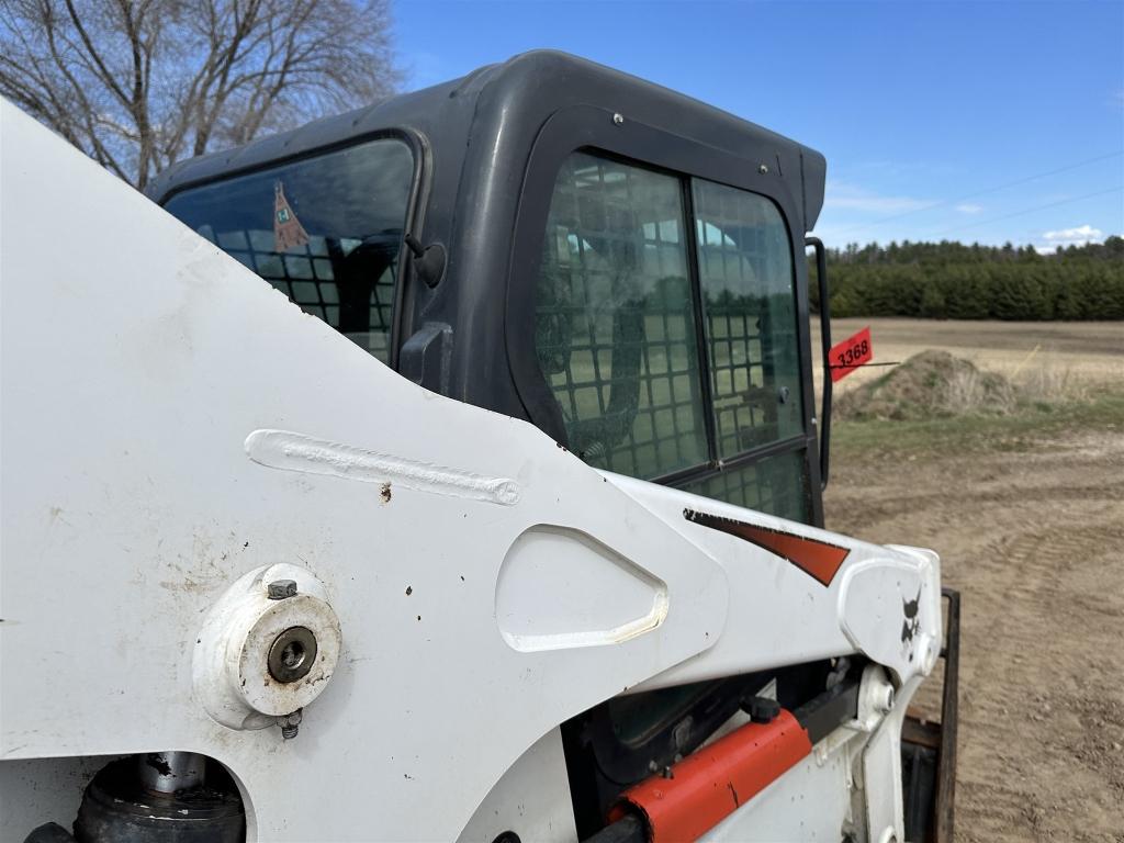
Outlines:
[[587,153],[559,173],[535,347],[571,450],[598,468],[707,461],[685,219],[674,176]]

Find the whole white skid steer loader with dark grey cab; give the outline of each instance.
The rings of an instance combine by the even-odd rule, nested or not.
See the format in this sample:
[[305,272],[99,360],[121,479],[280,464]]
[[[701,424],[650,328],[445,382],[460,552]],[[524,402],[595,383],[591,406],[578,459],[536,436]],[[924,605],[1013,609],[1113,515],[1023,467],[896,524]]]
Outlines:
[[0,839],[951,840],[818,153],[545,52],[149,198],[0,125]]

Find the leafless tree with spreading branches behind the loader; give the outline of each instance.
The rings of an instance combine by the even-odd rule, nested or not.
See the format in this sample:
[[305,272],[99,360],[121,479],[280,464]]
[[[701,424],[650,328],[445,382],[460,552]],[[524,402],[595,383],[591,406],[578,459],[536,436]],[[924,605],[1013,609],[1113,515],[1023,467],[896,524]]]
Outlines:
[[144,188],[172,162],[381,99],[389,0],[0,0],[0,93]]

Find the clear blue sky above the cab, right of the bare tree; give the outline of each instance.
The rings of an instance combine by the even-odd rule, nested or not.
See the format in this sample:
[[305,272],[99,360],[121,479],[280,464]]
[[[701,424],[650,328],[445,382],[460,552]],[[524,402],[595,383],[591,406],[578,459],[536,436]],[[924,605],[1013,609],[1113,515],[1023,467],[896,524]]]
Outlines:
[[827,156],[832,245],[1124,234],[1124,2],[398,0],[407,89],[535,47]]

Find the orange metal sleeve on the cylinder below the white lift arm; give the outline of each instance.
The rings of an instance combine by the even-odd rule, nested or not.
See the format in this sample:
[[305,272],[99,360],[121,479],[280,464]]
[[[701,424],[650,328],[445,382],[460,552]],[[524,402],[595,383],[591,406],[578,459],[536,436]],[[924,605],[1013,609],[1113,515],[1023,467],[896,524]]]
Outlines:
[[638,810],[650,843],[697,840],[810,752],[808,733],[781,710],[771,723],[747,723],[696,750],[667,774],[629,788],[609,812],[609,822]]

